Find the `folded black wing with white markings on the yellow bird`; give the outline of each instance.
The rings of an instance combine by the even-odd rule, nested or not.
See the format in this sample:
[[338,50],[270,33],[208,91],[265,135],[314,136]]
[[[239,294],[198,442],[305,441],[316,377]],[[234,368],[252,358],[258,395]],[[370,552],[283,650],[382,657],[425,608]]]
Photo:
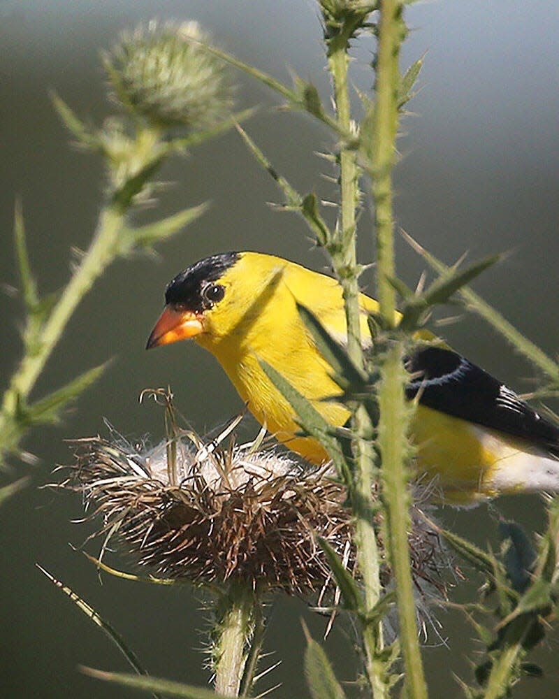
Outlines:
[[406,359],[408,398],[454,417],[522,438],[559,456],[559,427],[502,382],[444,347],[421,347]]

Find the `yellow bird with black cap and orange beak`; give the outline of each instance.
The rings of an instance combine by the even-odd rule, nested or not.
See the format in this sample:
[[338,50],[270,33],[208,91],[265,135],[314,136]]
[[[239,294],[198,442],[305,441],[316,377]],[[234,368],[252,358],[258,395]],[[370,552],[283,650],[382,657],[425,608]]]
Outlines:
[[[324,401],[340,393],[297,310],[304,305],[331,336],[346,341],[337,281],[259,252],[225,252],[192,264],[167,286],[166,306],[147,349],[194,338],[222,365],[249,410],[279,442],[312,463],[328,456],[317,440],[297,435],[293,408],[268,379],[263,359],[342,426],[347,408]],[[361,336],[372,342],[360,294]],[[444,500],[473,504],[500,493],[559,490],[559,428],[502,382],[444,345],[422,345],[408,357],[409,398],[418,396],[412,435],[419,473],[435,479]]]

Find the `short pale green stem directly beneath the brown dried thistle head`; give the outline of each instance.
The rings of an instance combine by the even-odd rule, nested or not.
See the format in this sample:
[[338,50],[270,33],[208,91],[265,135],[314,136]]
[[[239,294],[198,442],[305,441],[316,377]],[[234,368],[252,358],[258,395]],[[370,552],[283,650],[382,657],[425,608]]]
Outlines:
[[215,691],[218,694],[239,696],[257,604],[252,589],[240,583],[232,583],[219,600],[214,630]]

